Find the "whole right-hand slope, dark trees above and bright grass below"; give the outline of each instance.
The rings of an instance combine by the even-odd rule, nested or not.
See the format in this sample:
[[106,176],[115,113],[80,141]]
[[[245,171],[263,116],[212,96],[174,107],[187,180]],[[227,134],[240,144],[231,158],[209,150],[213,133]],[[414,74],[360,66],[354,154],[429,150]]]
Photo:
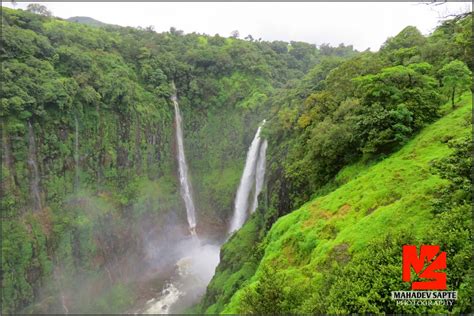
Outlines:
[[469,13],[429,36],[408,26],[376,53],[323,59],[276,91],[266,191],[223,245],[198,310],[427,312],[383,295],[406,288],[397,271],[411,241],[450,251],[450,289],[462,293],[453,311],[469,311],[472,100],[460,97],[472,89],[471,56]]

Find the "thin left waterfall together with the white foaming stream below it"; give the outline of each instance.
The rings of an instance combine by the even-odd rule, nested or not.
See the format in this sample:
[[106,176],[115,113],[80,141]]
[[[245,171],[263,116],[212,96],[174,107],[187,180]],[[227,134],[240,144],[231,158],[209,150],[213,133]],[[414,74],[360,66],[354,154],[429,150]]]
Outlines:
[[[147,301],[145,307],[137,313],[165,314],[183,312],[187,307],[197,303],[206,291],[207,284],[214,275],[214,270],[219,263],[220,243],[213,244],[198,237],[196,234],[196,207],[194,205],[191,183],[189,181],[188,166],[184,151],[182,118],[179,110],[176,87],[172,83],[174,93],[171,101],[175,110],[176,134],[176,160],[181,198],[186,208],[190,236],[173,245],[164,253],[167,258],[176,261],[174,272],[167,280],[166,285],[156,298]],[[155,244],[150,245],[151,252],[157,254],[163,250],[156,249]]]

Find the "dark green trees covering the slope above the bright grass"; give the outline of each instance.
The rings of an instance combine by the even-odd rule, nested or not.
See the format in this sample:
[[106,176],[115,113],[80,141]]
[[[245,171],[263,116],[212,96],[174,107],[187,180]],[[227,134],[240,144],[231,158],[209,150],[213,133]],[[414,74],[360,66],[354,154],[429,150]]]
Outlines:
[[[427,38],[407,27],[380,52],[324,59],[301,82],[275,93],[265,132],[271,168],[285,178],[279,176],[283,184],[269,192],[285,201],[277,207],[280,215],[308,201],[344,166],[398,150],[439,118],[441,105],[452,98],[447,87],[462,86],[457,95],[469,88],[471,70],[462,52],[471,47],[448,40],[469,36],[471,26],[470,16],[448,21]],[[438,41],[445,43],[442,51],[430,54]],[[410,58],[399,58],[408,51]],[[458,65],[463,76],[450,84],[445,65]],[[277,193],[282,191],[284,197]]]

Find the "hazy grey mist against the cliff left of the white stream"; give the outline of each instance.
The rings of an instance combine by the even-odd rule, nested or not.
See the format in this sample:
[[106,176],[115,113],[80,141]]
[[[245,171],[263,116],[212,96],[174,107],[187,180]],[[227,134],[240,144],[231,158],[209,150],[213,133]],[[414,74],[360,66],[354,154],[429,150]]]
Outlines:
[[[147,203],[146,216],[127,227],[126,221],[114,219],[112,203],[85,189],[71,196],[65,207],[96,222],[90,232],[100,247],[96,267],[82,267],[68,256],[55,256],[51,277],[43,280],[38,300],[25,313],[134,312],[157,296],[175,274],[176,262],[193,246],[186,242],[191,237],[183,225],[182,210],[173,207],[158,212],[154,201]],[[69,242],[66,238],[58,241]]]

